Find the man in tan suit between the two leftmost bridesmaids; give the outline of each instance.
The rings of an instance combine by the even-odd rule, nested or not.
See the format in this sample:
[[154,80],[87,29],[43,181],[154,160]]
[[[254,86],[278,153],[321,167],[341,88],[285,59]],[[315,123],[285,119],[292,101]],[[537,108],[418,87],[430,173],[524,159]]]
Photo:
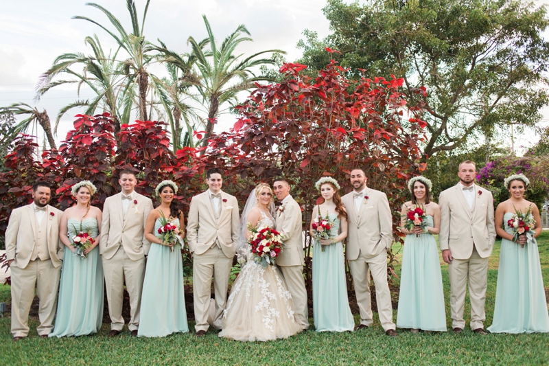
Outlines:
[[145,239],[143,229],[152,210],[152,201],[135,192],[137,179],[131,170],[122,170],[118,183],[122,192],[108,197],[103,206],[99,244],[111,321],[108,335],[117,336],[124,328],[122,300],[126,280],[126,289],[130,295],[128,328],[132,336],[137,336],[145,255],[150,249],[150,242]]

